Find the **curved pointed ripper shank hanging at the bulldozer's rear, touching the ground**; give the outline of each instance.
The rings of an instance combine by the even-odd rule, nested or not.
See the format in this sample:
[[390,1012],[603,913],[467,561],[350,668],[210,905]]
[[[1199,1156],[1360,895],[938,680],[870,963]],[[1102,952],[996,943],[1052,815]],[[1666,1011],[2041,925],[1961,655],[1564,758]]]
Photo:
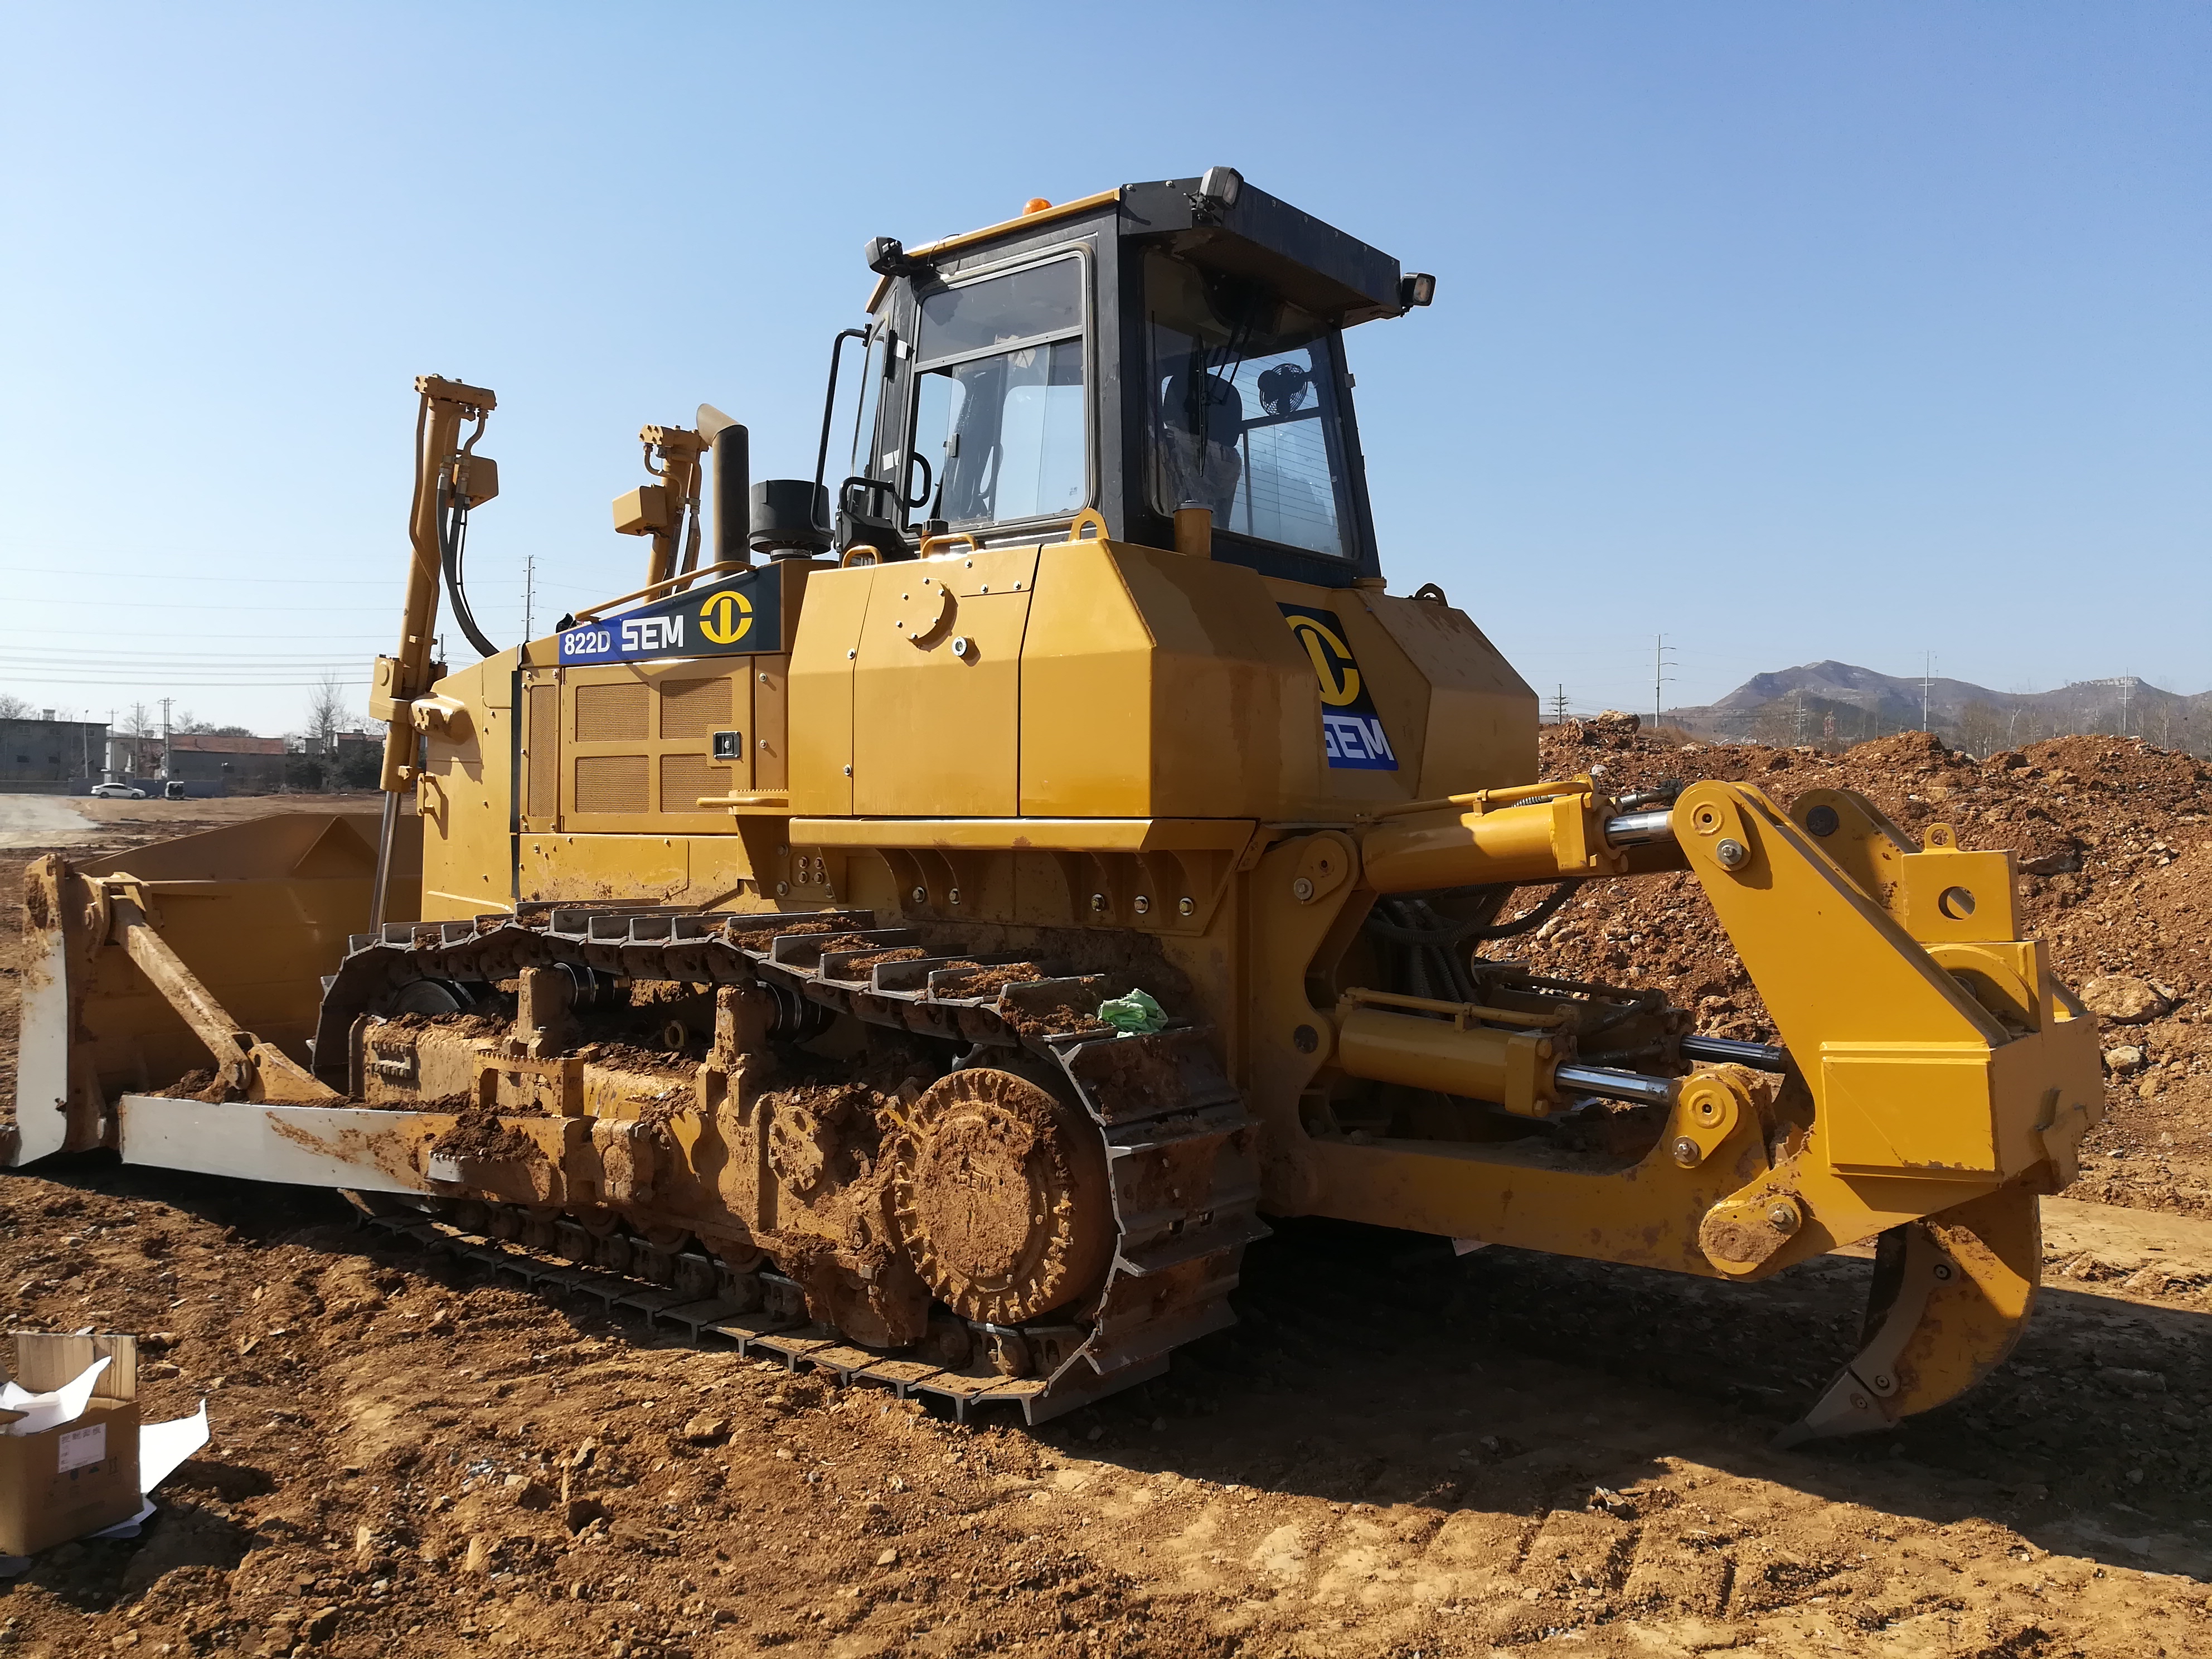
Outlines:
[[1997,1369],[2035,1307],[2042,1241],[2037,1194],[2017,1183],[1889,1228],[1858,1358],[1776,1444],[1889,1429]]

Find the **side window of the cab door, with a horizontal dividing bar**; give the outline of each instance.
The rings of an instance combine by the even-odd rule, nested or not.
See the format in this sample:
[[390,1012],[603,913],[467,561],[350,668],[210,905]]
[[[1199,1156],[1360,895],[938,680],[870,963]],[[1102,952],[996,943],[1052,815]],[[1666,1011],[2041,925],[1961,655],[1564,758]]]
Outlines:
[[1000,524],[1091,500],[1077,257],[925,294],[916,367],[916,518]]

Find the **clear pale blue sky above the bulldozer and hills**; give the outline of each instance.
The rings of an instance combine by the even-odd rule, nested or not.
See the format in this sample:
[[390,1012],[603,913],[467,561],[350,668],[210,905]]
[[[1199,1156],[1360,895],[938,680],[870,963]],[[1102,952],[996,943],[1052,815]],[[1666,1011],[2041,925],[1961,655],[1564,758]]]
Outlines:
[[301,723],[392,648],[411,378],[487,630],[635,586],[699,400],[812,471],[860,243],[1232,164],[1352,334],[1391,586],[1546,697],[1840,657],[2212,684],[2203,4],[0,11],[0,692]]

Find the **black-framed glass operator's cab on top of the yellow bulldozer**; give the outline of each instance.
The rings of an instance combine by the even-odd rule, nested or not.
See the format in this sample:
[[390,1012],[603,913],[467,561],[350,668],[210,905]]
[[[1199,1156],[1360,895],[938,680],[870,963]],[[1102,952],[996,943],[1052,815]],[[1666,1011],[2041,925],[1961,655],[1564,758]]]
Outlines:
[[1230,168],[1133,184],[918,250],[883,276],[852,414],[838,544],[925,535],[1172,544],[1316,586],[1380,575],[1343,332],[1427,303],[1427,276]]

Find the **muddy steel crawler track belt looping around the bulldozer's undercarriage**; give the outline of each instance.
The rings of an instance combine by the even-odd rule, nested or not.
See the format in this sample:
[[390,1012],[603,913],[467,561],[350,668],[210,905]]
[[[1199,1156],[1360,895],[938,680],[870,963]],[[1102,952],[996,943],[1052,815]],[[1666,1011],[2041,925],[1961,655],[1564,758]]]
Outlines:
[[[810,931],[774,931],[787,922],[805,922]],[[825,951],[825,942],[836,949]],[[962,1044],[969,1051],[962,1064],[987,1064],[991,1051],[1033,1055],[1066,1079],[1106,1150],[1115,1252],[1104,1290],[1079,1321],[975,1325],[980,1349],[1004,1354],[1011,1345],[1026,1358],[1024,1376],[854,1347],[834,1329],[807,1327],[796,1285],[776,1274],[761,1276],[765,1294],[748,1305],[750,1294],[701,1298],[418,1217],[374,1223],[422,1243],[445,1241],[524,1283],[644,1312],[690,1329],[695,1340],[761,1347],[847,1380],[942,1396],[960,1413],[1004,1400],[1042,1422],[1159,1376],[1175,1347],[1234,1323],[1228,1294],[1243,1248],[1267,1232],[1256,1217],[1254,1124],[1221,1073],[1208,1031],[1181,1024],[1141,1037],[1057,1035],[1033,1015],[1071,1000],[1095,1002],[1102,975],[1055,973],[1048,962],[1006,956],[880,960],[920,945],[916,929],[874,927],[872,911],[544,907],[473,922],[392,925],[380,936],[349,940],[325,984],[314,1053],[319,1068],[343,1084],[334,1073],[345,1068],[338,1057],[347,1053],[354,1020],[409,982],[498,982],[524,967],[566,962],[630,980],[763,984],[776,993],[790,1029],[849,1013]],[[991,989],[967,993],[978,980]]]

